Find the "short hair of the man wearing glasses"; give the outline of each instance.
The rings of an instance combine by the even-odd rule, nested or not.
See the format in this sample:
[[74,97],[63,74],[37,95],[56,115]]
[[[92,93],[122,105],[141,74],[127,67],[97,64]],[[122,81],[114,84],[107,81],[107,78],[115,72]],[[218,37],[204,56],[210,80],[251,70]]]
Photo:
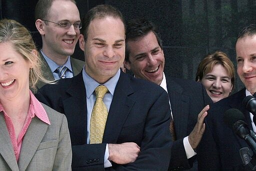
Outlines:
[[[38,0],[34,8],[34,19],[47,19],[49,8],[54,0]],[[75,0],[68,0],[76,4]]]

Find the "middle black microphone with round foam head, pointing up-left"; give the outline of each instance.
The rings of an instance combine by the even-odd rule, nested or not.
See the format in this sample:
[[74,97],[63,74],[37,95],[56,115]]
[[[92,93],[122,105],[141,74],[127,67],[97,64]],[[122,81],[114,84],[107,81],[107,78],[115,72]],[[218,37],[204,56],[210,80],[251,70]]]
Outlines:
[[243,113],[235,108],[229,108],[224,113],[224,122],[230,127],[241,139],[244,139],[250,146],[253,153],[256,154],[256,135],[249,129],[245,123]]

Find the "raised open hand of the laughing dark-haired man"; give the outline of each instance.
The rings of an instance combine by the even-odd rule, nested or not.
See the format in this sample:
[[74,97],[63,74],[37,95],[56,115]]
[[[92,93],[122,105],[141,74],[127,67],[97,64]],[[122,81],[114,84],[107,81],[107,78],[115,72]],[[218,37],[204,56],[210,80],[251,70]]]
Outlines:
[[207,110],[209,109],[209,105],[206,105],[201,112],[197,116],[197,122],[191,131],[191,133],[188,135],[188,142],[190,143],[191,147],[195,149],[197,145],[199,144],[202,134],[205,130],[205,123],[203,123],[203,120],[205,116],[207,115]]

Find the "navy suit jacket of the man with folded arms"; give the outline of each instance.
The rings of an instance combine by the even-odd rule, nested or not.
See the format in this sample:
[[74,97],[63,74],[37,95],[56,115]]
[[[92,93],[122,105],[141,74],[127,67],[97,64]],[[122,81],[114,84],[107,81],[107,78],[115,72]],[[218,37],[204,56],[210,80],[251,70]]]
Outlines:
[[72,144],[72,170],[104,170],[106,143],[135,142],[137,159],[129,164],[112,162],[108,170],[167,170],[171,135],[167,93],[154,83],[120,73],[109,108],[101,144],[86,144],[87,109],[82,73],[45,85],[36,97],[64,113]]

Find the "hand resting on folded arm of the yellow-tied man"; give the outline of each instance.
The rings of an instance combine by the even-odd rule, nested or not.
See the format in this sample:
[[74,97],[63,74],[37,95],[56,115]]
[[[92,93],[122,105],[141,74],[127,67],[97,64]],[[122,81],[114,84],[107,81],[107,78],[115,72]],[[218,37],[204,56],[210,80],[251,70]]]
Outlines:
[[134,142],[125,142],[121,144],[108,144],[109,156],[117,164],[127,164],[136,160],[140,147]]

